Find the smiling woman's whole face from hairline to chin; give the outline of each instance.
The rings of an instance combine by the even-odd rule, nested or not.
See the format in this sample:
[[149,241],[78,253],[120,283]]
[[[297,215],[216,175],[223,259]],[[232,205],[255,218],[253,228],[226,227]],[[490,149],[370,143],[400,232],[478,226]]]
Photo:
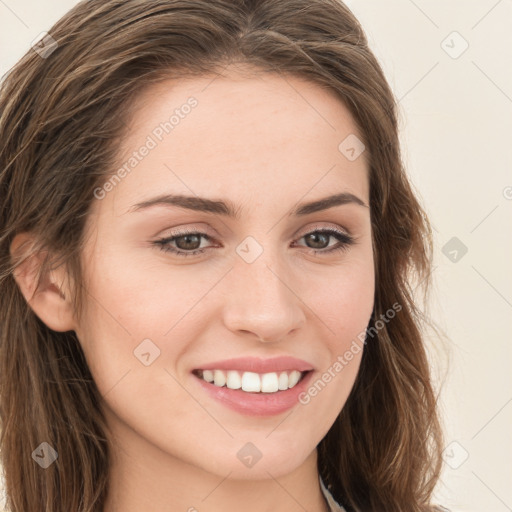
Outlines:
[[124,172],[95,192],[76,328],[109,425],[127,457],[289,473],[343,408],[373,308],[358,130],[290,76],[166,81],[135,107]]

